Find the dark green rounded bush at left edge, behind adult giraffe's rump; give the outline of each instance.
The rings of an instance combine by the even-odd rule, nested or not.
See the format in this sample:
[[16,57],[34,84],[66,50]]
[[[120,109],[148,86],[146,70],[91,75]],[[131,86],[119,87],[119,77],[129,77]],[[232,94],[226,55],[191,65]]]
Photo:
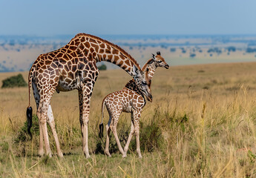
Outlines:
[[18,76],[10,76],[3,80],[3,85],[1,88],[15,88],[15,87],[26,87],[27,83],[24,81],[22,74]]

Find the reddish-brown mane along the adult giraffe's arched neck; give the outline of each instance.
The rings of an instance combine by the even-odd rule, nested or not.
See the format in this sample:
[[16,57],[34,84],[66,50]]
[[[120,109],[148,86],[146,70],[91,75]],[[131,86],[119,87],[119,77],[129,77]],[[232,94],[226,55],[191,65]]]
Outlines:
[[[100,41],[100,42],[103,42],[103,43],[105,43],[105,44],[110,45],[111,47],[114,47],[116,50],[121,51],[125,56],[128,56],[128,59],[130,59],[130,61],[131,61],[134,65],[136,65],[136,67],[137,67],[138,69],[141,70],[140,65],[138,64],[138,62],[137,62],[130,54],[128,54],[125,50],[123,50],[123,49],[122,49],[121,47],[119,47],[118,45],[116,45],[116,44],[114,44],[114,43],[111,43],[111,42],[108,42],[108,41],[105,40],[105,39],[101,39],[101,38],[99,38],[98,36],[90,35],[90,34],[88,34],[88,33],[78,33],[78,34],[76,34],[75,37],[73,37],[73,39],[77,39],[77,38],[79,38],[80,36],[87,36],[87,37],[89,37],[89,38],[91,38],[91,39],[96,39],[96,40],[98,40],[98,41]],[[71,42],[73,39],[71,39],[70,42]]]

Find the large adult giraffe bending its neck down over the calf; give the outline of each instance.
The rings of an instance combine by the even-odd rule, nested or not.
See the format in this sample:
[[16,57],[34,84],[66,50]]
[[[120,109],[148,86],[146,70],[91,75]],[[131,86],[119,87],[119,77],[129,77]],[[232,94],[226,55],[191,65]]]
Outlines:
[[[118,65],[131,76],[137,86],[149,99],[152,97],[144,72],[137,61],[125,50],[99,37],[86,33],[77,34],[64,47],[50,53],[41,54],[33,63],[28,75],[29,105],[27,107],[27,130],[30,133],[32,125],[32,108],[30,105],[30,87],[36,100],[37,116],[39,118],[39,155],[44,154],[45,141],[46,154],[51,156],[50,144],[47,134],[47,124],[53,132],[58,156],[63,156],[59,146],[59,139],[55,130],[53,112],[50,107],[50,98],[54,91],[78,90],[79,93],[79,121],[82,131],[82,150],[86,158],[90,157],[88,151],[88,122],[91,94],[99,70],[96,62],[111,62]],[[30,133],[30,136],[31,133]]]

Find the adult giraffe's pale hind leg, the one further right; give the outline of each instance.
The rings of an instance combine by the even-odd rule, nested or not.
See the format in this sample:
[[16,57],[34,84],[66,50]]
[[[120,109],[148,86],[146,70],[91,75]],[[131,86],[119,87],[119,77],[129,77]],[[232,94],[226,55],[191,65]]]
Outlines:
[[59,139],[58,139],[57,132],[56,132],[56,125],[55,125],[54,118],[53,118],[53,111],[52,111],[50,105],[49,105],[48,112],[47,112],[47,123],[50,125],[50,129],[53,133],[53,137],[54,137],[54,140],[56,143],[57,154],[59,157],[63,157],[62,150],[60,149],[60,145],[59,145]]

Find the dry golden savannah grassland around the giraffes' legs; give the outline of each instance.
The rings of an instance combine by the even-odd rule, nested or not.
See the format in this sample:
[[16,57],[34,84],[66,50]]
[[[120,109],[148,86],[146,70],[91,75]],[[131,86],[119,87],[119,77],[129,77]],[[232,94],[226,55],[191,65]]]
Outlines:
[[[18,137],[26,121],[27,88],[0,89],[0,175],[256,177],[255,68],[256,63],[249,62],[157,69],[151,86],[153,102],[147,103],[140,120],[142,159],[137,157],[134,138],[127,158],[122,158],[112,135],[109,158],[102,149],[105,139],[98,137],[102,99],[130,79],[122,70],[101,71],[93,90],[88,131],[91,159],[82,154],[76,90],[54,93],[51,101],[65,154],[59,159],[37,155],[36,129],[32,141]],[[0,73],[0,81],[14,74]],[[22,74],[27,79],[27,72]],[[130,114],[122,113],[118,132],[123,146],[130,125]],[[51,135],[50,144],[56,153]]]

